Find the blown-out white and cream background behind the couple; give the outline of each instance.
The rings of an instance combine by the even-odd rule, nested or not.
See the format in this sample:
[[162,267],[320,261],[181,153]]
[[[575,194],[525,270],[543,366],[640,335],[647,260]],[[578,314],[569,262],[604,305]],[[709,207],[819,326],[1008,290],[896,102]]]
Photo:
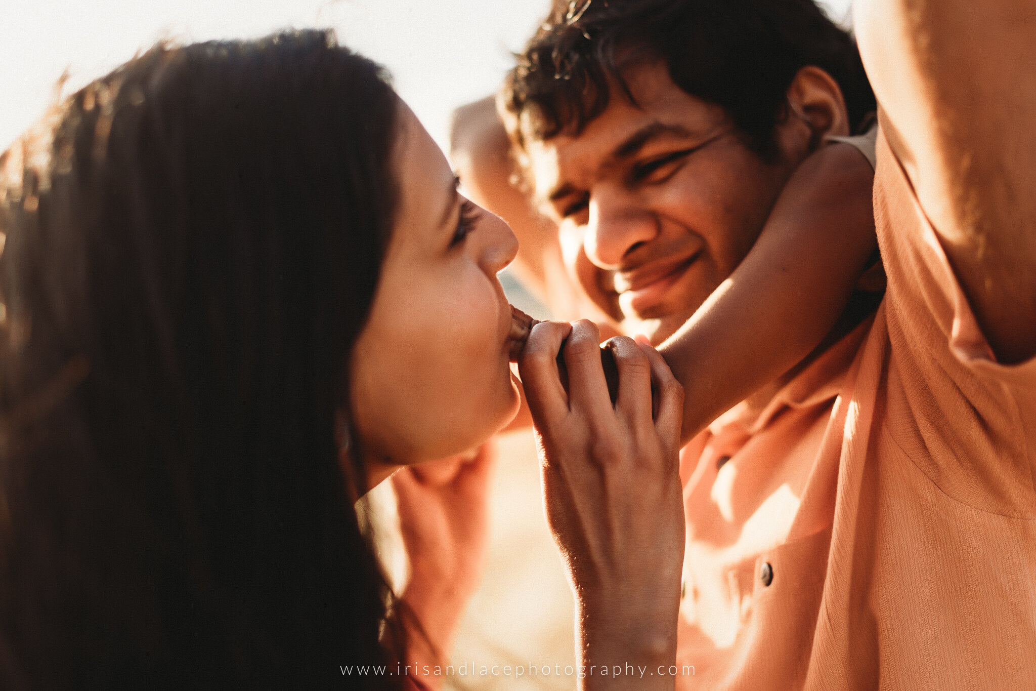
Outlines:
[[[450,114],[485,96],[511,66],[511,54],[531,34],[549,0],[0,0],[0,150],[55,98],[162,38],[178,41],[257,37],[285,27],[330,27],[339,40],[386,65],[400,95],[443,149]],[[850,0],[824,0],[845,22]],[[516,305],[548,316],[508,276]],[[493,481],[491,544],[482,587],[457,641],[455,662],[491,667],[571,665],[572,596],[540,499],[530,432],[499,440]],[[391,490],[372,503],[383,557],[405,574],[394,536]],[[571,689],[575,680],[454,675],[454,689]]]

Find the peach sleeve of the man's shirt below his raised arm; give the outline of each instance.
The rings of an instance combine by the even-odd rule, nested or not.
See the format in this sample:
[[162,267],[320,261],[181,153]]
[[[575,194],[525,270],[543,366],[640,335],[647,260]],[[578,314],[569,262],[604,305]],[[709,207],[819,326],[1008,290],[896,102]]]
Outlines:
[[888,279],[886,431],[953,498],[1036,517],[1036,358],[997,362],[883,135],[874,223]]

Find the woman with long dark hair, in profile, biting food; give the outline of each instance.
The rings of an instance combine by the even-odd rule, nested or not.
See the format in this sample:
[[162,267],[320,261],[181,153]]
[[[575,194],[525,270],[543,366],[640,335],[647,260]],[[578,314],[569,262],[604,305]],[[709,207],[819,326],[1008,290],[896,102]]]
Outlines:
[[517,242],[381,68],[160,46],[0,164],[0,686],[440,682],[487,453],[399,476],[399,598],[354,503],[514,416]]

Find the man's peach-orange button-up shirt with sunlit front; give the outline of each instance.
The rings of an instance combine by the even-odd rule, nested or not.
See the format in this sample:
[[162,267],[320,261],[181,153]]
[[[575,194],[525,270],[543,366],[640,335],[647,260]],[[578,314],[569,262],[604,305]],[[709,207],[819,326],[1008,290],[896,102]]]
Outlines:
[[678,689],[1036,690],[1036,359],[996,362],[881,133],[874,213],[877,312],[684,449]]

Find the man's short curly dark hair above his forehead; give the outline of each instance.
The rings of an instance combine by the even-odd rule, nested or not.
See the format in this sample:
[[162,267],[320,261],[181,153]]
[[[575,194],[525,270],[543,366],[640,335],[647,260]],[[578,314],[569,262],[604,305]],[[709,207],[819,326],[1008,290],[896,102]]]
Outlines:
[[509,133],[519,148],[528,136],[578,135],[607,107],[609,79],[633,100],[623,73],[643,59],[722,107],[766,159],[806,65],[841,87],[854,129],[875,109],[856,41],[813,0],[554,0],[500,93]]

